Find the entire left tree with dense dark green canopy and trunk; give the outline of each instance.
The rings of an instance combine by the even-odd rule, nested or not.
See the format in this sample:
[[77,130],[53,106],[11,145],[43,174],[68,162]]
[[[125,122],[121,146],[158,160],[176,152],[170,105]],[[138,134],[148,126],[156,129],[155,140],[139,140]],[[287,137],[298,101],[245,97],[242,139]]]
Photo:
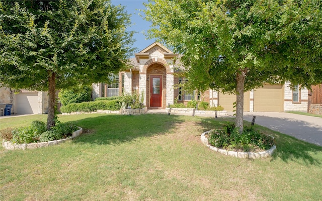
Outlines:
[[1,1],[0,81],[48,90],[47,128],[57,89],[107,81],[127,65],[129,15],[105,0]]

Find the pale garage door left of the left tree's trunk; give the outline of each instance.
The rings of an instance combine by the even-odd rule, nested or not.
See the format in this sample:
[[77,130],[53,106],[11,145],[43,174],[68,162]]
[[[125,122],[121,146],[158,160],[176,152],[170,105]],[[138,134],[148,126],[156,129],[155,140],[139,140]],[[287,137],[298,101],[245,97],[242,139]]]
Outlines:
[[23,92],[16,95],[16,114],[38,114],[38,92]]

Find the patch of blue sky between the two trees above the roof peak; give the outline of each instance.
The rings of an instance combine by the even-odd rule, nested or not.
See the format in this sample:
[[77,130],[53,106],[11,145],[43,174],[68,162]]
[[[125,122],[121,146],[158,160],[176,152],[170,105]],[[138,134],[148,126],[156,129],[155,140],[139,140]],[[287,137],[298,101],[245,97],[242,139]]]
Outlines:
[[[143,33],[146,33],[150,28],[150,23],[145,21],[139,14],[144,15],[143,12],[139,11],[139,9],[145,9],[143,3],[148,3],[148,1],[142,0],[112,0],[113,5],[122,5],[125,6],[125,10],[128,14],[131,14],[131,23],[132,26],[128,28],[129,31],[137,32],[134,34],[134,38],[136,42],[133,44],[134,47],[138,48],[138,51],[143,50],[150,44],[152,44],[155,39],[147,40],[146,36]],[[133,55],[134,57],[134,55]]]

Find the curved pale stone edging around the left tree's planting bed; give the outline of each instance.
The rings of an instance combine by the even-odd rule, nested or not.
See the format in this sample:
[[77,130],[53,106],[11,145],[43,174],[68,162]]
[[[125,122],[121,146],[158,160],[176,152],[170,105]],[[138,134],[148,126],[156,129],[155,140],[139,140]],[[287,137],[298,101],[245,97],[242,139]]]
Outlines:
[[83,133],[83,128],[78,127],[78,126],[77,126],[77,128],[78,128],[78,130],[74,131],[72,133],[72,136],[69,136],[69,137],[67,137],[65,139],[61,139],[61,140],[53,140],[53,141],[48,141],[48,142],[37,142],[37,143],[29,143],[29,144],[25,144],[25,143],[24,144],[17,144],[17,143],[12,143],[10,141],[3,140],[2,146],[8,150],[14,150],[14,149],[26,150],[26,149],[37,149],[37,148],[41,148],[41,147],[58,145],[58,144],[66,142],[67,140],[72,140],[72,139],[76,138],[77,136],[81,135]]

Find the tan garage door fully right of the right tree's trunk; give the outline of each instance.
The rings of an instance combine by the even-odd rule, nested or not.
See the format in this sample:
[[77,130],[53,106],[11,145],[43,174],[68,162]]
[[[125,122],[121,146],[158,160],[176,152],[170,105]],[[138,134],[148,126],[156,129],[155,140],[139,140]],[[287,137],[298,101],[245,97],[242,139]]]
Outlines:
[[254,90],[255,112],[283,112],[284,85],[265,84]]

